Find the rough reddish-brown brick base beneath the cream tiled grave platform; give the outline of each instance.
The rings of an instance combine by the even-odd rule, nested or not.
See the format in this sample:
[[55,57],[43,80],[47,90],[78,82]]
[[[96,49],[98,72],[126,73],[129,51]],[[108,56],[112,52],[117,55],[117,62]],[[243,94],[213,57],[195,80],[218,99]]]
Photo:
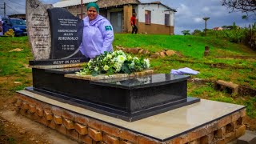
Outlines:
[[100,122],[45,102],[18,94],[14,103],[16,111],[53,130],[58,130],[78,142],[85,143],[227,143],[245,133],[243,118],[246,110],[238,110],[224,118],[200,126],[186,134],[159,141],[130,130]]

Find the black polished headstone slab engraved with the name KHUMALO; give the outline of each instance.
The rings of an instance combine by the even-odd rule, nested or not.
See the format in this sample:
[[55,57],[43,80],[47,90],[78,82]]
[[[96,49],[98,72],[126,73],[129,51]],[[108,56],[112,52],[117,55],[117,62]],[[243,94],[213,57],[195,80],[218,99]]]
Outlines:
[[78,49],[82,42],[82,19],[63,8],[47,11],[51,32],[50,59],[84,58]]

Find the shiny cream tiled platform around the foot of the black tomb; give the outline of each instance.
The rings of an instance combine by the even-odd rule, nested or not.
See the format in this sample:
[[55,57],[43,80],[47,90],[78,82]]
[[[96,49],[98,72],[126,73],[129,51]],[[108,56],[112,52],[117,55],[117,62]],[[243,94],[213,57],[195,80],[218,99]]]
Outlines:
[[198,126],[204,126],[207,123],[213,122],[228,114],[233,114],[234,112],[245,108],[245,106],[201,99],[201,102],[197,102],[189,106],[183,106],[162,114],[156,114],[136,122],[126,122],[118,118],[86,110],[82,107],[58,102],[54,99],[46,98],[30,91],[20,90],[18,93],[37,99],[41,102],[46,102],[53,106],[58,106],[78,114],[98,119],[102,122],[110,123],[126,130],[134,131],[138,134],[149,136],[150,138],[158,139],[160,141],[165,141],[166,139],[182,135],[185,132],[194,130]]

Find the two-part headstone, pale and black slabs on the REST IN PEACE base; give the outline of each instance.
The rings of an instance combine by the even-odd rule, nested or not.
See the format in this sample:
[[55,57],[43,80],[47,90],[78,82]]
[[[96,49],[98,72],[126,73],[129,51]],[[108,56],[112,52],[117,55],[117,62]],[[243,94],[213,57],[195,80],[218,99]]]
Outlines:
[[26,27],[34,56],[31,66],[86,62],[78,49],[83,22],[66,9],[26,0]]

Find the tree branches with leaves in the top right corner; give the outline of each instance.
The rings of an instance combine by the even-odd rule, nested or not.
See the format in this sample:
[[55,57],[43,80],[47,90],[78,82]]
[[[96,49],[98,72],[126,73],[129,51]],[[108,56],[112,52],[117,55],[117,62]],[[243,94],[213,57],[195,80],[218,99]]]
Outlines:
[[[222,6],[230,9],[230,12],[241,11],[242,13],[252,14],[256,17],[256,1],[255,0],[222,0]],[[242,18],[247,18],[242,16]]]

